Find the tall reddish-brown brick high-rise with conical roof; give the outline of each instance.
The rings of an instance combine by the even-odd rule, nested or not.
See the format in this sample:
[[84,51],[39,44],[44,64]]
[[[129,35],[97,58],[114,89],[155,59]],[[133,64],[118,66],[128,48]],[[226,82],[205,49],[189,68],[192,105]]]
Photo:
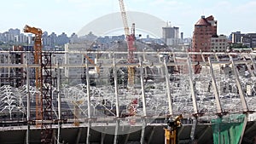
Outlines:
[[[205,16],[201,16],[201,19],[195,23],[191,51],[211,51],[212,37],[217,37],[217,20],[214,20],[212,15],[207,18],[205,18]],[[201,55],[192,55],[192,61],[201,62]]]

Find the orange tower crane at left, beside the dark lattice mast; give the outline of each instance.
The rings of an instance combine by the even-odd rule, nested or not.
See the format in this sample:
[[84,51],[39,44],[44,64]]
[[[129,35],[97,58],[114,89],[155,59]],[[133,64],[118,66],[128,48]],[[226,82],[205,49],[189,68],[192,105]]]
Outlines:
[[43,82],[43,78],[42,78],[42,69],[41,69],[41,63],[42,63],[42,30],[39,28],[35,28],[35,27],[31,27],[31,26],[25,26],[24,27],[24,32],[30,32],[32,34],[35,34],[35,37],[33,37],[33,41],[34,41],[34,63],[38,64],[40,66],[37,66],[35,68],[35,74],[36,74],[36,89],[39,91],[38,93],[36,93],[36,122],[37,122],[37,126],[39,126],[40,124],[38,123],[38,120],[42,119],[42,111],[43,111],[43,107],[42,107],[42,82]]

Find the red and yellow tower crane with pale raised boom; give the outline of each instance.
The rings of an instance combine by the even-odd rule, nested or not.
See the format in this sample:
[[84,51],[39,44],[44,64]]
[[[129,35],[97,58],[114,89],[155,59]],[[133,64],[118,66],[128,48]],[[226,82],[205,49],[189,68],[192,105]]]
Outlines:
[[[133,23],[131,26],[131,34],[129,32],[129,26],[127,22],[127,16],[125,12],[125,4],[123,0],[119,0],[119,7],[121,11],[121,16],[125,29],[125,38],[128,47],[128,63],[134,63],[134,54],[133,52],[136,50],[135,48],[135,24]],[[134,72],[135,69],[133,66],[128,66],[128,85],[132,87],[134,85]]]

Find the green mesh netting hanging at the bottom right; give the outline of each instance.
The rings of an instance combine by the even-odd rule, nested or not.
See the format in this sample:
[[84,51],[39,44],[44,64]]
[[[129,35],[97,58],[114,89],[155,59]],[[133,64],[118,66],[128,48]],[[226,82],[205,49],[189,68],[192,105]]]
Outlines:
[[239,143],[245,117],[244,114],[234,114],[227,118],[212,119],[214,144]]

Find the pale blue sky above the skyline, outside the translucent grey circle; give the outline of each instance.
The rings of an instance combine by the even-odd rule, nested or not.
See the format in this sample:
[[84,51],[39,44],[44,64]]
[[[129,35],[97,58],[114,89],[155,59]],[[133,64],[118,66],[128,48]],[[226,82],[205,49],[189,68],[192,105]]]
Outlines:
[[[171,21],[184,37],[192,37],[201,15],[213,15],[218,20],[218,34],[256,32],[255,0],[124,0],[124,3],[126,11]],[[5,0],[0,5],[0,32],[9,28],[22,30],[29,25],[70,36],[90,21],[115,12],[119,12],[118,0]]]

